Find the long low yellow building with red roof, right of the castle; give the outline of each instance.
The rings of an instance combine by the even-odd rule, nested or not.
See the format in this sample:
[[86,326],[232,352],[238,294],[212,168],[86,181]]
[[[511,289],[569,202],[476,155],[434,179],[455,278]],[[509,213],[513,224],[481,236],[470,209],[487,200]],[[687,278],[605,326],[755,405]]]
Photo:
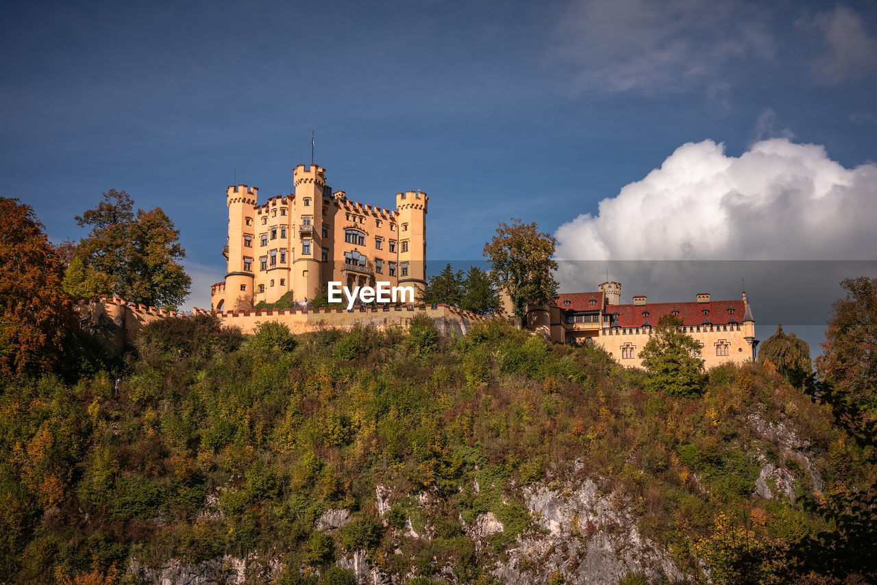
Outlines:
[[639,352],[662,315],[682,320],[682,329],[701,343],[705,367],[755,359],[755,319],[746,293],[739,301],[647,303],[643,295],[621,304],[621,283],[602,282],[595,292],[560,294],[554,303],[527,312],[527,327],[558,343],[595,343],[623,366],[642,367]]

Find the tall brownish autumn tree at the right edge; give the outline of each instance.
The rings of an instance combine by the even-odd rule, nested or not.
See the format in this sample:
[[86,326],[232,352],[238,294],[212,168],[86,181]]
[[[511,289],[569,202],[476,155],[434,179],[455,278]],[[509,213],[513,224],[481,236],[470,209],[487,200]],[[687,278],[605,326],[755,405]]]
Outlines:
[[831,305],[816,367],[826,399],[866,423],[877,418],[877,278],[847,278],[845,298]]

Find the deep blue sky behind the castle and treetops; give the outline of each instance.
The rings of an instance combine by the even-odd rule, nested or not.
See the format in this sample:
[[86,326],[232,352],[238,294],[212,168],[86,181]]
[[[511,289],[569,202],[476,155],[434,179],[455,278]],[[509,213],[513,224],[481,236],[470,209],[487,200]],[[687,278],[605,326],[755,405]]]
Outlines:
[[[788,150],[774,162],[831,161],[840,170],[828,175],[865,178],[877,168],[873,3],[20,3],[0,29],[0,195],[32,204],[56,241],[82,236],[73,217],[111,188],[162,207],[199,306],[225,271],[225,187],[236,175],[261,196],[288,192],[311,131],[317,164],[349,197],[429,193],[432,260],[479,260],[510,217],[567,225],[559,251],[571,260],[592,257],[582,242],[612,258],[600,233],[649,227],[636,211],[633,225],[610,221],[600,202],[646,189],[683,155],[697,166],[712,155],[705,140],[731,162],[780,139]],[[687,143],[700,151],[676,153]],[[805,161],[806,144],[822,159]],[[785,183],[795,172],[774,162],[757,173],[751,207],[806,204],[809,188]],[[750,189],[747,168],[735,189]],[[873,187],[857,181],[838,179],[850,217],[833,218],[821,260],[873,260],[873,234],[842,229],[873,213]],[[794,191],[780,203],[777,182]],[[661,189],[645,199],[684,215],[679,190]],[[753,218],[756,239],[777,231]],[[655,256],[693,257],[699,237]],[[752,258],[727,240],[709,258]]]

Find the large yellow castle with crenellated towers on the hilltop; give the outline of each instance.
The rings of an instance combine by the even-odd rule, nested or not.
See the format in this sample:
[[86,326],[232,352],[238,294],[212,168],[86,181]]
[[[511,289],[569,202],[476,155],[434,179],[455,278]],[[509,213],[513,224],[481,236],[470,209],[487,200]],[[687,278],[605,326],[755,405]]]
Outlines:
[[255,187],[226,190],[228,265],[225,281],[210,287],[212,310],[249,310],[289,292],[304,302],[330,281],[424,288],[425,193],[396,193],[396,209],[350,201],[315,165],[298,165],[293,184],[293,194],[265,203]]

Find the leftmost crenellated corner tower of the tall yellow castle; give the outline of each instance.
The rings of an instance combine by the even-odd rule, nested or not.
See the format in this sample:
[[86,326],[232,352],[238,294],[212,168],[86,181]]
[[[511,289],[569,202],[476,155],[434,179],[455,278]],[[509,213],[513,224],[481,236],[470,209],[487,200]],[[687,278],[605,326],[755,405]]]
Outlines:
[[222,310],[253,308],[253,206],[259,189],[230,185],[225,190],[228,205],[228,246],[225,256],[225,303]]

